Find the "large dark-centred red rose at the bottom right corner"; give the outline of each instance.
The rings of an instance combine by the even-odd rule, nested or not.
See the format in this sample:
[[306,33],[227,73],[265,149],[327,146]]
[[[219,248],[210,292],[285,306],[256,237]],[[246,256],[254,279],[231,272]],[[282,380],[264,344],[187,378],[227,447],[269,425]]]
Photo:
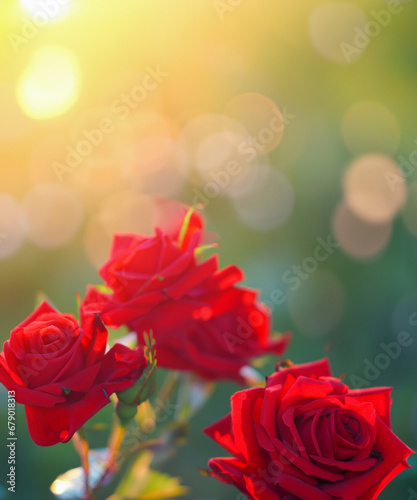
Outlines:
[[327,360],[281,369],[205,429],[234,456],[210,460],[212,475],[252,500],[375,499],[412,453],[391,430],[390,391],[349,390]]

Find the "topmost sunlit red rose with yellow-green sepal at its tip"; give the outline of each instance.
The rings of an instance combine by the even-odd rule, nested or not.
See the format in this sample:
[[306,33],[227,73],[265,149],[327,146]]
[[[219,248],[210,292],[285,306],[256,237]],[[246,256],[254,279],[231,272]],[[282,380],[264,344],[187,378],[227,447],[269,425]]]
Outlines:
[[156,228],[151,237],[115,235],[110,258],[99,273],[113,292],[111,299],[123,308],[124,320],[147,312],[167,298],[180,297],[213,272],[214,259],[200,265],[195,259],[202,225],[198,212],[184,209],[169,231]]

